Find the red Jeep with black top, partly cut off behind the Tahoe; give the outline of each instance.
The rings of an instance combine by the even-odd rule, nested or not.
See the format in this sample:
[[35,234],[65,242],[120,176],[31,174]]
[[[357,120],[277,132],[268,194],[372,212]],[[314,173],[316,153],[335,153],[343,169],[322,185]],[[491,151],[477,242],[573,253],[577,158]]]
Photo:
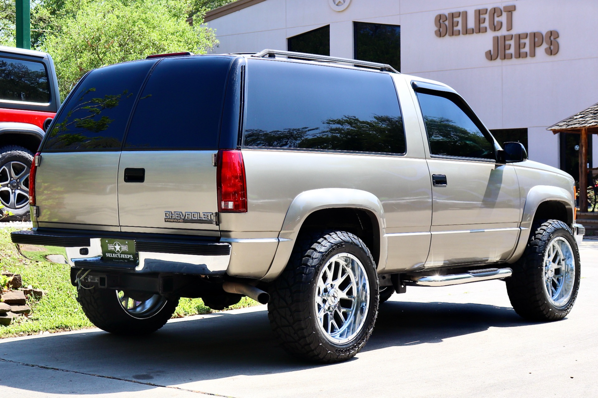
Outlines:
[[[60,106],[49,54],[0,46],[0,219],[29,220],[29,170]],[[9,213],[10,212],[10,213]]]

